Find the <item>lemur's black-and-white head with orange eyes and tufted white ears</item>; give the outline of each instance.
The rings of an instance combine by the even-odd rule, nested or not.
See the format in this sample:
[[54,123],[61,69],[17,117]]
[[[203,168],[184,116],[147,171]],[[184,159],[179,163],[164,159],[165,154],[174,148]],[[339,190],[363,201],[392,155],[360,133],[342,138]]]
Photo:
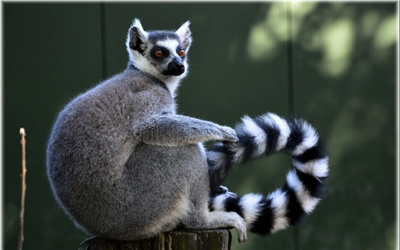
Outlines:
[[167,86],[177,85],[188,73],[186,54],[192,42],[189,25],[189,21],[183,23],[176,32],[146,32],[139,19],[134,19],[126,39],[130,61],[139,70],[164,81]]

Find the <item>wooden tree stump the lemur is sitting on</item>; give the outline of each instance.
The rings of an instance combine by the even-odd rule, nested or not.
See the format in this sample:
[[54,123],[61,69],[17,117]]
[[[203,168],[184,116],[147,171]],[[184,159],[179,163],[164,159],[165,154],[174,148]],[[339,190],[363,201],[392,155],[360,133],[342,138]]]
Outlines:
[[90,238],[81,243],[79,250],[230,250],[231,240],[228,229],[186,230],[138,241]]

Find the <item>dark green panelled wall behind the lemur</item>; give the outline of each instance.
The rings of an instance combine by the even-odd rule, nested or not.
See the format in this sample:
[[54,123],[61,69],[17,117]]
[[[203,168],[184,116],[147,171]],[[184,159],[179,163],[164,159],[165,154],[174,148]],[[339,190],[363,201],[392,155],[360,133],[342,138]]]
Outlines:
[[[24,249],[77,249],[86,235],[52,198],[45,148],[61,108],[126,68],[126,32],[177,29],[194,41],[179,113],[233,126],[243,115],[295,113],[330,150],[329,189],[297,228],[232,249],[394,249],[396,3],[3,4],[3,248],[17,248],[19,128],[26,128]],[[290,159],[232,171],[230,191],[268,194]]]

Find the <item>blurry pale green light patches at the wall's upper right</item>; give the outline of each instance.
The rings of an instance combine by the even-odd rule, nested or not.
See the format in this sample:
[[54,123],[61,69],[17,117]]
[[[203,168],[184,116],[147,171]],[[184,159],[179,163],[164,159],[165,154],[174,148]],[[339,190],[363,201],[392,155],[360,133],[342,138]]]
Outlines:
[[[254,61],[273,60],[279,44],[291,41],[318,54],[314,66],[321,75],[341,77],[354,66],[354,59],[367,52],[367,65],[389,59],[397,42],[396,13],[377,4],[293,2],[272,3],[264,20],[252,26],[247,53]],[[359,46],[362,44],[363,46]],[[366,51],[368,50],[368,51]]]

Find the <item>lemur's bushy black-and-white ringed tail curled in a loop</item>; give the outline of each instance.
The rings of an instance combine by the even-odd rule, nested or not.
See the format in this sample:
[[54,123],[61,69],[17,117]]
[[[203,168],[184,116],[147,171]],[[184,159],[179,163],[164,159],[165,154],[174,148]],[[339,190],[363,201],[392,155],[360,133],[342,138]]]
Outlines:
[[272,153],[288,153],[294,169],[286,176],[286,183],[267,197],[254,193],[241,198],[232,193],[212,195],[210,209],[237,212],[249,231],[261,235],[300,222],[323,197],[328,177],[328,153],[317,132],[304,119],[286,120],[272,113],[255,119],[243,117],[235,130],[239,142],[218,143],[208,151],[213,190],[234,164]]

